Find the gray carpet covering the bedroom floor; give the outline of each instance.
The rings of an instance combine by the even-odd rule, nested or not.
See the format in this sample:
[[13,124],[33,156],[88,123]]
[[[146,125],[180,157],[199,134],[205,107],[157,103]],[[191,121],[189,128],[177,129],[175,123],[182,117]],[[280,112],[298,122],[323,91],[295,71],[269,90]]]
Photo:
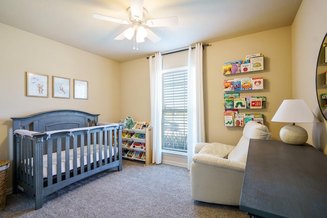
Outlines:
[[191,200],[189,171],[123,160],[106,171],[44,198],[41,209],[24,193],[9,195],[0,217],[248,217],[238,206]]

